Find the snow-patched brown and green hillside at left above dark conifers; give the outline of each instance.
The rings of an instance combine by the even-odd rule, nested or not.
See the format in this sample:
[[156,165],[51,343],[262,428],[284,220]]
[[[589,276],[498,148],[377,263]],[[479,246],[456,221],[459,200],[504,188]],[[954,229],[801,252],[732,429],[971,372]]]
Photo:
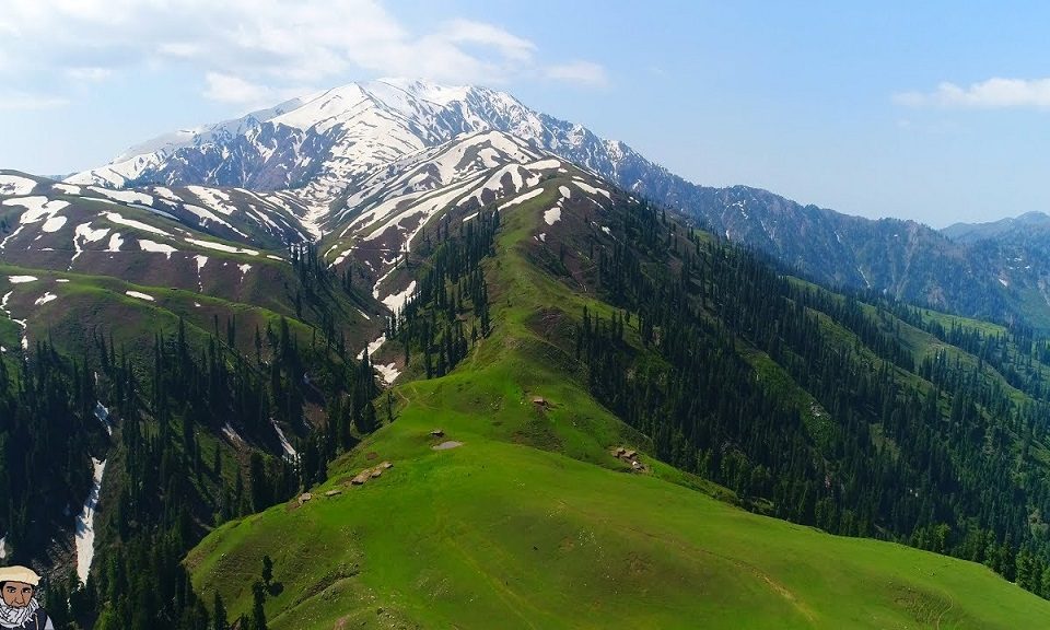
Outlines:
[[256,327],[265,331],[280,317],[302,324],[307,340],[315,328],[353,348],[382,328],[382,305],[360,280],[337,277],[308,245],[282,243],[241,213],[223,214],[243,228],[235,233],[236,225],[197,206],[212,223],[196,215],[194,222],[171,203],[163,210],[118,202],[103,189],[59,186],[40,183],[33,197],[0,196],[0,295],[8,295],[5,315],[26,320],[31,343],[50,337],[60,350],[81,354],[85,337],[101,329],[137,348],[179,317],[206,332],[236,320],[233,342],[245,353]]

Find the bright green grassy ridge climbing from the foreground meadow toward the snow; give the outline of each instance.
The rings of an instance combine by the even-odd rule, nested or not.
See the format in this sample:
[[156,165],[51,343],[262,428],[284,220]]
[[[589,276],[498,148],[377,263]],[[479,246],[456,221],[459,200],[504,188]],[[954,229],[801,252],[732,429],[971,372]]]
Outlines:
[[[595,401],[567,340],[584,305],[616,312],[582,252],[621,233],[594,210],[545,224],[558,184],[503,214],[486,264],[492,334],[451,374],[381,397],[392,421],[332,463],[310,501],[212,532],[186,560],[206,602],[219,592],[231,619],[249,615],[268,555],[277,630],[1050,625],[1050,604],[980,564],[751,514],[646,455],[643,472],[614,457],[654,446]],[[637,330],[626,335],[638,346]],[[737,343],[810,424],[827,419],[768,355]],[[448,441],[460,445],[434,448]],[[351,483],[384,460],[393,468]]]

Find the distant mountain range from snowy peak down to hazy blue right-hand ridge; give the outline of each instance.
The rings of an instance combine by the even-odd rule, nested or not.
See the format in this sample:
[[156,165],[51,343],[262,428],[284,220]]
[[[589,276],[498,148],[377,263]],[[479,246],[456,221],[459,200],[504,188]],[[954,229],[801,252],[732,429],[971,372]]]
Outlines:
[[365,174],[459,135],[488,130],[678,209],[815,281],[1050,327],[1050,258],[1035,243],[1002,242],[1020,236],[1012,226],[1028,224],[1029,215],[938,232],[914,221],[872,221],[803,206],[758,188],[700,186],[622,142],[486,88],[406,80],[351,83],[236,120],[163,136],[67,182],[287,190],[307,209],[305,230],[319,237],[323,228],[336,228],[332,217],[353,212],[345,192],[357,189]]

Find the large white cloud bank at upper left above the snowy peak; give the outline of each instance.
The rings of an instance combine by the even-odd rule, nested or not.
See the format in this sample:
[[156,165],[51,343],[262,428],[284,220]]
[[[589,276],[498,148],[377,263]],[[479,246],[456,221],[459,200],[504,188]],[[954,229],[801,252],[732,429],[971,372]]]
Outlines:
[[197,73],[205,97],[252,105],[377,75],[607,83],[590,61],[542,67],[533,42],[494,24],[454,19],[412,32],[378,0],[3,3],[0,79],[28,91],[56,75],[101,81],[135,67]]

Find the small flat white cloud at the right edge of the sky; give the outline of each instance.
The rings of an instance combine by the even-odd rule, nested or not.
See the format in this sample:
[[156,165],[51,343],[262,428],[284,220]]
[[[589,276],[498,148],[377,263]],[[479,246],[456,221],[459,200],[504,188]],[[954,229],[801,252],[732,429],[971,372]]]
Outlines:
[[961,88],[944,82],[932,92],[903,92],[894,101],[909,107],[1050,109],[1050,79],[1001,79]]

